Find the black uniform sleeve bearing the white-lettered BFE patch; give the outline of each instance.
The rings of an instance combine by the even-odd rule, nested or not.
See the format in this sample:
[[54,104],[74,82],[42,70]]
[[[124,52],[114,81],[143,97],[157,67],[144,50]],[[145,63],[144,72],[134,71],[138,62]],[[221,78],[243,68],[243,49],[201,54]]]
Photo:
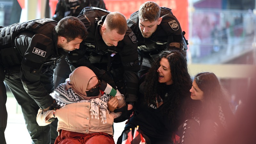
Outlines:
[[32,39],[21,35],[15,40],[15,45],[20,50],[26,50],[20,67],[20,78],[25,91],[41,108],[51,106],[53,99],[40,82],[40,78],[41,68],[51,55],[52,40],[41,34],[36,34]]

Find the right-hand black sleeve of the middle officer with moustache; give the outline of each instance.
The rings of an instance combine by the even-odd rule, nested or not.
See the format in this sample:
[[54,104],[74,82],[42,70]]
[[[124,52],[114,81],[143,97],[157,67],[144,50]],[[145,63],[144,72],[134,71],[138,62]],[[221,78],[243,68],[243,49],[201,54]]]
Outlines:
[[140,61],[138,56],[137,38],[130,28],[128,28],[122,45],[122,52],[120,57],[124,68],[124,81],[126,82],[126,102],[137,101],[138,92],[138,71],[140,70]]

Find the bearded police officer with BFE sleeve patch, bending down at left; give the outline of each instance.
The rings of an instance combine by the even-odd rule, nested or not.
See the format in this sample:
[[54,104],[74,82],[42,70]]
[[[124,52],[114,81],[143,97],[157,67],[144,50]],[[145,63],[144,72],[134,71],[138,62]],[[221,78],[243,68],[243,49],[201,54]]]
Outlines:
[[[21,106],[32,143],[49,144],[51,127],[38,126],[36,115],[39,107],[50,109],[56,105],[49,95],[53,91],[53,68],[60,57],[79,48],[87,36],[86,28],[70,16],[59,23],[52,19],[29,20],[2,27],[0,31],[1,143],[6,143],[5,82]],[[52,137],[52,143],[54,140]]]

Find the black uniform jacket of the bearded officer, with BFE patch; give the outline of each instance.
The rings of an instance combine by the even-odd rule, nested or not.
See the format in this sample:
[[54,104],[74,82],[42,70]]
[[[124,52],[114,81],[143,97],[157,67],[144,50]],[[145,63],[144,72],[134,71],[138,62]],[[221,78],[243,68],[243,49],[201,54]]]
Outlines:
[[[54,20],[38,19],[0,29],[0,63],[5,74],[10,79],[20,78],[26,92],[41,108],[47,108],[53,102],[49,95],[51,88],[47,89],[41,82],[42,74],[51,73],[65,54],[57,48],[55,26],[57,22]],[[49,84],[52,82],[50,78]]]

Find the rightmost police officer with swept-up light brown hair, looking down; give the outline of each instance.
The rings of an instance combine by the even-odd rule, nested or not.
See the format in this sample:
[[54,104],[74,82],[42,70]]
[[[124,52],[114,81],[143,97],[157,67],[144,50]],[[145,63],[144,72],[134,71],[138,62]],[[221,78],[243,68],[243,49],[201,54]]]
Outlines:
[[139,11],[131,14],[128,26],[138,39],[138,51],[142,62],[139,77],[148,72],[154,58],[164,49],[180,50],[186,57],[187,40],[180,23],[171,9],[155,2],[145,2]]

